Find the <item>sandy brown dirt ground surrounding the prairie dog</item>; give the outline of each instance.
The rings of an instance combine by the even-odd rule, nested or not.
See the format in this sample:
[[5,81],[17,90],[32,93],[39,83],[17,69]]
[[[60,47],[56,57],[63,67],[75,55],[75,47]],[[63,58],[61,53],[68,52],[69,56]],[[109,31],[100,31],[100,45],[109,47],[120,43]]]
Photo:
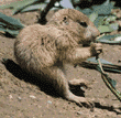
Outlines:
[[[12,17],[10,10],[0,12]],[[36,12],[23,13],[13,18],[29,25],[36,21]],[[121,103],[107,88],[99,72],[67,65],[68,79],[85,78],[92,82],[92,88],[86,89],[85,97],[96,99],[94,110],[79,107],[57,96],[48,85],[36,84],[38,82],[34,77],[31,81],[30,76],[16,69],[18,66],[13,63],[14,41],[15,39],[0,35],[0,61],[9,58],[6,66],[0,63],[0,118],[121,118]],[[121,65],[118,63],[121,60],[121,46],[103,44],[101,58]],[[117,81],[117,88],[121,92],[121,74],[109,73],[109,75]]]

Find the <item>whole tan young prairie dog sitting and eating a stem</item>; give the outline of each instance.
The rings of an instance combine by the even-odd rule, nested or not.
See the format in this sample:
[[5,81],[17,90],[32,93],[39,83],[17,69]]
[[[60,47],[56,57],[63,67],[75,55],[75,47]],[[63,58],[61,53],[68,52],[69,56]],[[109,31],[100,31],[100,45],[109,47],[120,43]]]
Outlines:
[[[14,43],[14,55],[19,65],[51,83],[65,99],[78,105],[91,106],[91,100],[74,95],[69,85],[86,84],[84,79],[67,81],[64,65],[78,64],[102,51],[100,43],[84,47],[79,44],[95,42],[100,33],[84,13],[74,9],[57,11],[46,25],[33,24],[20,31]],[[42,78],[41,75],[46,76]]]

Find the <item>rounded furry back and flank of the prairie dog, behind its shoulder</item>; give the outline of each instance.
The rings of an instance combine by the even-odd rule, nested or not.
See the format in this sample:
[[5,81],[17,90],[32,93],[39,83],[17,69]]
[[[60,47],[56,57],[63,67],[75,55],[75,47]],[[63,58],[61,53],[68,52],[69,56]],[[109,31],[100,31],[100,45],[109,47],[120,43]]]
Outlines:
[[20,32],[14,43],[14,55],[22,68],[32,69],[35,66],[40,71],[56,62],[53,32],[58,33],[56,28],[40,24],[29,25]]

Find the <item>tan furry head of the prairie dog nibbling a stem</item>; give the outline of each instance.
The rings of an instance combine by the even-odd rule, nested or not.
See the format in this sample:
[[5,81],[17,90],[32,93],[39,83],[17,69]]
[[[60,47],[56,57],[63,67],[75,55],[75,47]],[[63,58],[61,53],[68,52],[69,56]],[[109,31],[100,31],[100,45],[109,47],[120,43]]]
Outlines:
[[85,44],[95,41],[100,33],[87,15],[75,9],[58,10],[47,24],[54,24],[61,30],[78,36],[78,43]]

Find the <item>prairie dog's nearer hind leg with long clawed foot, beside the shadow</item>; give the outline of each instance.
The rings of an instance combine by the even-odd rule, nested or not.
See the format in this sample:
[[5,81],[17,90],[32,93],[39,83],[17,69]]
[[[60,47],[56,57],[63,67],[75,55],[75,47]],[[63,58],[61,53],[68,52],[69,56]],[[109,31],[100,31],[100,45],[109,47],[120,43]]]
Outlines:
[[87,100],[84,97],[78,97],[69,90],[68,82],[61,68],[53,66],[50,68],[44,68],[42,69],[42,72],[44,73],[44,75],[46,75],[46,81],[53,84],[53,86],[62,97],[70,101],[75,101],[80,106],[82,103],[85,103],[87,107],[91,107],[92,104],[90,100]]

